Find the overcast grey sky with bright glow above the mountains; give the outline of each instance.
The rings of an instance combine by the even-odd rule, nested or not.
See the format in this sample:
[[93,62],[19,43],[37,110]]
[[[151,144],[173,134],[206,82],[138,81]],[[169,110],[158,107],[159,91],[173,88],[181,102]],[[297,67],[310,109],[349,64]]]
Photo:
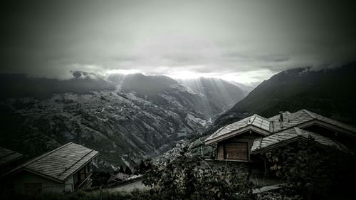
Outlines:
[[9,1],[0,6],[0,72],[251,83],[289,68],[331,68],[356,60],[350,2]]

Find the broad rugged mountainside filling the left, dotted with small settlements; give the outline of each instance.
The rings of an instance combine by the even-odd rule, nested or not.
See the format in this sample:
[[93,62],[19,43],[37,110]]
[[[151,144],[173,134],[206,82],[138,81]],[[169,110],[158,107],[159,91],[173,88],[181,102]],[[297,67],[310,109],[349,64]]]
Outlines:
[[98,150],[102,169],[167,151],[204,132],[229,104],[161,75],[0,76],[1,147],[33,157],[75,142]]

